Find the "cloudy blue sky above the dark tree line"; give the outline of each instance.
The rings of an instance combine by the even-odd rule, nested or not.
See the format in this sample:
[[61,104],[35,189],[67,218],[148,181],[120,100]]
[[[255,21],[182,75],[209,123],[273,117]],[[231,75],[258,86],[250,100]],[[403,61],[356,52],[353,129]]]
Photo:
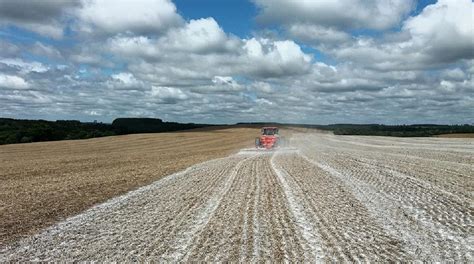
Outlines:
[[0,0],[0,117],[474,123],[471,0]]

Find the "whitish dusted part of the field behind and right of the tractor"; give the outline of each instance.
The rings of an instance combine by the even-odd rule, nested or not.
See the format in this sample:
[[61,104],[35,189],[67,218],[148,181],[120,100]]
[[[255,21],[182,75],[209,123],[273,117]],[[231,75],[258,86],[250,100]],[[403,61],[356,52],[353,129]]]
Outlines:
[[472,140],[299,133],[291,144],[191,166],[0,261],[473,261]]

